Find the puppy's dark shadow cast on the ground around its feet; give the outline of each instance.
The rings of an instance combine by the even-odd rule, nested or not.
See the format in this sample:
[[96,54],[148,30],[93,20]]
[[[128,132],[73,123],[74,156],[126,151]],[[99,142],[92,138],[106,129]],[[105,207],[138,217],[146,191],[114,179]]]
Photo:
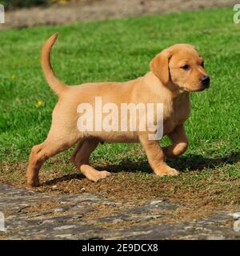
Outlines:
[[[167,163],[180,170],[198,170],[201,171],[203,169],[215,169],[226,164],[234,164],[240,161],[240,152],[231,153],[225,157],[221,158],[206,158],[199,154],[190,154],[188,156],[182,156],[175,159],[167,160]],[[138,171],[144,173],[152,173],[148,162],[144,159],[133,162],[130,159],[123,160],[118,165],[107,165],[107,166],[95,166],[98,170],[108,170],[112,173],[118,172],[130,172],[136,173]],[[48,182],[45,182],[44,185],[54,185],[58,182],[66,182],[72,179],[82,179],[85,178],[82,174],[66,174],[60,178],[54,178]]]

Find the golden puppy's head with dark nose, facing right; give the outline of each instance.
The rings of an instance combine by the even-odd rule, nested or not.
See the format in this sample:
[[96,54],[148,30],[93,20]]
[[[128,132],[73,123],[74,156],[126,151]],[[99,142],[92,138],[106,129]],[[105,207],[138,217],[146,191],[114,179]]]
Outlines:
[[178,44],[162,50],[150,62],[150,70],[165,86],[186,91],[205,90],[210,86],[203,59],[191,45]]

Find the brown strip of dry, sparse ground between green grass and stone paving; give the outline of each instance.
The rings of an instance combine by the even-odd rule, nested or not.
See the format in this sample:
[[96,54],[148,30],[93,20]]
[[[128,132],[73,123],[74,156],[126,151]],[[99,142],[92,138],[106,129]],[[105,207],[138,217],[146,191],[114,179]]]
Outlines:
[[[70,168],[67,173],[64,165]],[[26,163],[3,163],[0,166],[0,182],[26,187],[26,166]],[[182,202],[197,208],[213,206],[223,209],[225,206],[239,206],[239,180],[227,178],[218,169],[212,172],[214,175],[206,178],[198,178],[199,171],[190,171],[178,178],[158,178],[154,174],[138,170],[118,171],[100,182],[90,182],[70,163],[62,163],[59,167],[43,166],[40,172],[42,186],[35,190],[57,195],[100,194],[119,202],[142,203],[154,198],[168,198],[172,202]]]

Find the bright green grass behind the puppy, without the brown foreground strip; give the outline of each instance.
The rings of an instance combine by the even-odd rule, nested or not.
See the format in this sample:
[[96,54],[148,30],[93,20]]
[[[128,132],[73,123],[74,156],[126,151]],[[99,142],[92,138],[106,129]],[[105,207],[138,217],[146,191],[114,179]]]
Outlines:
[[[26,162],[31,147],[46,138],[57,98],[42,76],[39,55],[46,39],[58,31],[53,66],[68,84],[137,78],[163,48],[179,42],[196,46],[205,58],[211,86],[191,95],[192,111],[186,122],[190,146],[170,164],[184,173],[204,169],[199,174],[202,179],[219,168],[226,178],[240,178],[240,25],[232,16],[232,10],[223,8],[1,31],[0,161]],[[38,101],[44,106],[36,108]],[[146,160],[138,154],[139,148],[104,144],[94,151],[93,159],[124,169],[130,162]],[[69,152],[62,158],[68,159]]]

